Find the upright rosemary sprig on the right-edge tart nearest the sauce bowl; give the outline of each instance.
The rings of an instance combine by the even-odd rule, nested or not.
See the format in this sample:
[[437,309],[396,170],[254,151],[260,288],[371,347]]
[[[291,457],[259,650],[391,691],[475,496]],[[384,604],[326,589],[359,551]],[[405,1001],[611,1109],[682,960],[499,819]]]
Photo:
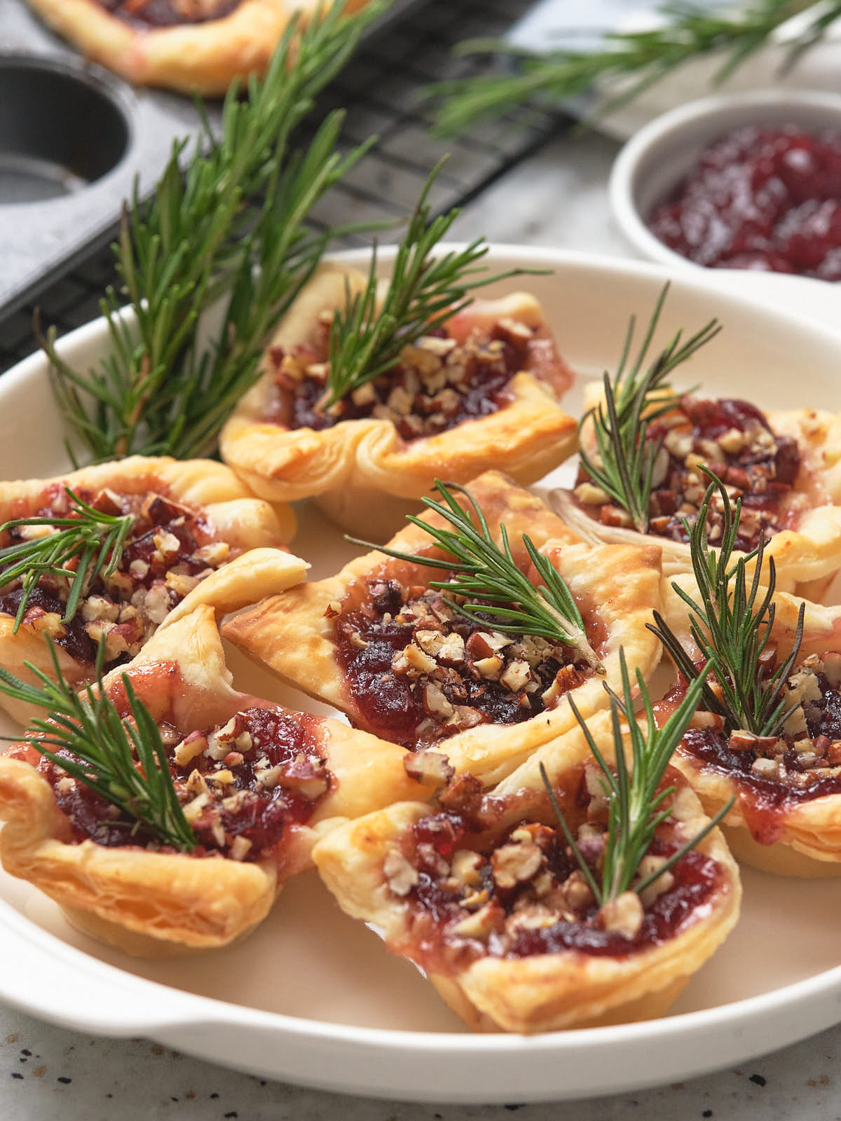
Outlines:
[[666,379],[721,331],[718,319],[710,319],[685,342],[683,332],[678,331],[644,370],[667,295],[668,284],[657,298],[637,358],[626,373],[636,328],[636,316],[631,316],[613,379],[604,372],[604,404],[589,409],[579,423],[579,432],[588,420],[592,423],[598,448],[598,456],[589,455],[583,450],[579,453],[584,470],[597,485],[628,511],[640,534],[648,529],[654,470],[663,446],[662,438],[646,438],[648,425],[680,400],[680,395],[671,392]]

